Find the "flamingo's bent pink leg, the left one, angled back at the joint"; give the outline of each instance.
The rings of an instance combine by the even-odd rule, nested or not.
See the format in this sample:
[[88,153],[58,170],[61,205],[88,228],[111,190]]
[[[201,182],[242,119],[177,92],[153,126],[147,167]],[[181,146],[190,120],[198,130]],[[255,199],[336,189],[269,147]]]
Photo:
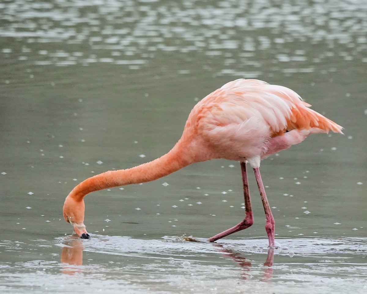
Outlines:
[[228,230],[225,230],[222,233],[219,233],[210,239],[209,242],[214,242],[218,239],[221,239],[229,234],[239,232],[251,226],[254,223],[254,218],[252,216],[252,208],[251,208],[251,200],[250,200],[250,192],[248,191],[248,180],[247,180],[247,171],[246,171],[246,162],[241,162],[241,173],[242,173],[242,183],[243,183],[243,196],[245,200],[245,210],[246,210],[246,217],[242,222],[238,225],[231,227]]

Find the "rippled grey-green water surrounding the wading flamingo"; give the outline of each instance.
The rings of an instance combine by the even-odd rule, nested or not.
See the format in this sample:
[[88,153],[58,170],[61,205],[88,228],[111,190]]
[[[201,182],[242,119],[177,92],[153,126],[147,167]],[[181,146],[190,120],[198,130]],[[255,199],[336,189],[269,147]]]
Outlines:
[[[365,293],[366,12],[363,1],[1,3],[1,293]],[[237,78],[290,87],[345,128],[262,162],[279,249],[266,248],[252,175],[252,227],[183,241],[243,218],[239,164],[225,160],[92,193],[93,238],[70,236],[62,204],[77,183],[166,153],[197,101]]]

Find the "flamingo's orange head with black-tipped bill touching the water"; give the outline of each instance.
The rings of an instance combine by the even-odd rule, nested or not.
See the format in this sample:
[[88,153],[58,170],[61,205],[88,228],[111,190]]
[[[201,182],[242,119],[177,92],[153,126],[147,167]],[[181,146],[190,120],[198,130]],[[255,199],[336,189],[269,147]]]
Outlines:
[[64,219],[73,226],[74,232],[82,239],[90,239],[86,226],[84,225],[84,200],[75,200],[68,196],[62,209]]

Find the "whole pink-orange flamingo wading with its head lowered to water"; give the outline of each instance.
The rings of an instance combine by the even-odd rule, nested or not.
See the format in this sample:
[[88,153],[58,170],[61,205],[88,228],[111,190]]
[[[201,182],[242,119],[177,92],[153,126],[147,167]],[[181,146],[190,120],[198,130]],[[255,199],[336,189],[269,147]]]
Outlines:
[[318,112],[291,89],[261,80],[226,83],[190,112],[181,139],[165,155],[129,169],[108,171],[78,184],[66,197],[65,220],[76,234],[89,239],[84,225],[84,196],[97,190],[150,182],[193,164],[215,158],[240,162],[246,215],[238,225],[208,239],[210,242],[253,223],[247,162],[253,168],[266,216],[269,247],[275,246],[275,222],[259,171],[261,159],[302,142],[315,133],[342,133],[342,127]]

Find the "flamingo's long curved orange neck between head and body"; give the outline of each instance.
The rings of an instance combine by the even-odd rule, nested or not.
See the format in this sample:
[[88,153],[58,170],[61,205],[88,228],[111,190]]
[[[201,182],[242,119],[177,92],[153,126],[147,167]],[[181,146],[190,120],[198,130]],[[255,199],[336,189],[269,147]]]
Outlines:
[[195,156],[192,156],[190,152],[185,152],[187,148],[183,148],[182,145],[181,140],[179,140],[170,152],[153,161],[129,169],[100,173],[88,178],[77,185],[70,192],[69,197],[81,201],[88,193],[112,187],[150,182],[197,162]]

